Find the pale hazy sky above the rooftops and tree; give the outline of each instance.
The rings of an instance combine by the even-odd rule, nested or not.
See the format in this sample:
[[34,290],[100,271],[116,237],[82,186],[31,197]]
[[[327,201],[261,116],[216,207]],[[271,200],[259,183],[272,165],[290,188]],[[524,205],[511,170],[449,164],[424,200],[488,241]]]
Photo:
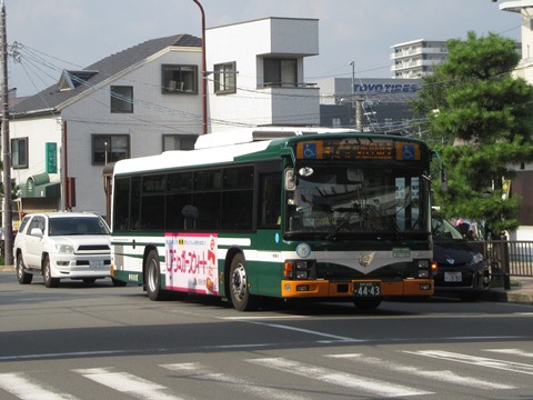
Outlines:
[[[199,0],[205,27],[268,17],[319,20],[320,54],[304,61],[304,81],[352,76],[392,78],[391,47],[416,40],[464,39],[469,31],[520,41],[520,14],[492,0]],[[189,33],[201,37],[193,0],[2,0],[9,88],[19,97],[59,81],[63,69],[82,69],[143,41]],[[209,51],[209,42],[207,43]],[[237,42],[235,46],[239,46]]]

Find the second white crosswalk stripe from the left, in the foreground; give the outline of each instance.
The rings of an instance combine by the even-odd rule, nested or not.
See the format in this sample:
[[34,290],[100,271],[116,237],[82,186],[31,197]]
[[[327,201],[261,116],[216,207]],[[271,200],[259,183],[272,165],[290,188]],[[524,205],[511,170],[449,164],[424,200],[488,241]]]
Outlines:
[[90,368],[72,370],[83,377],[117,391],[144,400],[178,400],[168,394],[167,387],[148,381],[128,372],[113,372],[112,368]]

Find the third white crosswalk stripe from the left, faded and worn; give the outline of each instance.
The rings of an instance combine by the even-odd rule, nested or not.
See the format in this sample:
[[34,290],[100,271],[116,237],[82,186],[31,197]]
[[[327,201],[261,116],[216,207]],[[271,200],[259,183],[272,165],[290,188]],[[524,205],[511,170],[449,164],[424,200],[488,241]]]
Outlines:
[[264,399],[279,399],[279,400],[304,400],[306,398],[295,396],[286,390],[279,390],[262,386],[259,382],[250,382],[243,379],[231,377],[221,372],[213,372],[209,367],[199,362],[184,362],[173,364],[161,364],[160,367],[177,372],[194,373],[194,379],[215,381],[225,383],[232,387],[232,389],[241,391],[247,394],[257,394]]

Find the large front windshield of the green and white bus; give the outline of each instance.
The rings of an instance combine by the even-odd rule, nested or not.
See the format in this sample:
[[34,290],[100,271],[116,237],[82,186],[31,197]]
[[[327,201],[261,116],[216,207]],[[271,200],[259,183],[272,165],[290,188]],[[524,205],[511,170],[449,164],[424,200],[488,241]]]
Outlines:
[[299,164],[286,191],[285,234],[329,240],[426,234],[428,190],[421,171]]

